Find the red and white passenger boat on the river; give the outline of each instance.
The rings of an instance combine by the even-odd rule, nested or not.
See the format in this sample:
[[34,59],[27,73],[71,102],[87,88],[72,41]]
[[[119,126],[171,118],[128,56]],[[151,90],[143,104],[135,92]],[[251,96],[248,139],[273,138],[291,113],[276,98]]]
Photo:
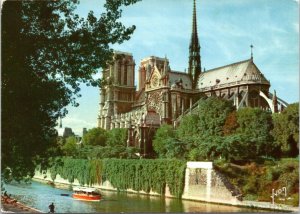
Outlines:
[[100,201],[101,194],[95,188],[74,187],[72,197],[83,201]]

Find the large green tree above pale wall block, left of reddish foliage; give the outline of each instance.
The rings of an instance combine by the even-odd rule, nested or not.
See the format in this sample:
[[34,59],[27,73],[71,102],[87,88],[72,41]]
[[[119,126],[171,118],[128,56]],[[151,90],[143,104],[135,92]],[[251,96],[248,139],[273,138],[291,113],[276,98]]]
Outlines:
[[211,160],[222,154],[223,127],[234,109],[231,101],[209,97],[200,101],[196,112],[183,117],[177,137],[186,144],[190,160]]

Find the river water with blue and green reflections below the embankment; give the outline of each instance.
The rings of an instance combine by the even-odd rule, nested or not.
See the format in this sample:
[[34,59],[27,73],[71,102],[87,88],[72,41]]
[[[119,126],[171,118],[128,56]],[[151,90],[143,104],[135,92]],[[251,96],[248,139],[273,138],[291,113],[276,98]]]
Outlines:
[[[187,200],[147,196],[124,192],[102,191],[103,200],[87,202],[74,200],[69,190],[57,189],[33,181],[31,184],[5,184],[5,190],[18,201],[48,212],[48,205],[54,203],[57,213],[109,213],[109,212],[258,212],[240,208],[208,204]],[[69,194],[69,196],[61,196]]]

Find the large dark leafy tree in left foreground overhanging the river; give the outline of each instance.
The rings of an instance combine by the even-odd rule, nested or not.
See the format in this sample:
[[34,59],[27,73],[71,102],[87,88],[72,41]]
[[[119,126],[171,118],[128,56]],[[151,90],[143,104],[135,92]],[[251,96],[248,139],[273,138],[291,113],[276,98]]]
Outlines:
[[78,105],[80,84],[103,84],[93,75],[111,60],[110,45],[133,33],[119,18],[136,1],[107,1],[100,17],[86,18],[75,13],[78,0],[3,2],[2,175],[20,180],[45,166],[56,121]]

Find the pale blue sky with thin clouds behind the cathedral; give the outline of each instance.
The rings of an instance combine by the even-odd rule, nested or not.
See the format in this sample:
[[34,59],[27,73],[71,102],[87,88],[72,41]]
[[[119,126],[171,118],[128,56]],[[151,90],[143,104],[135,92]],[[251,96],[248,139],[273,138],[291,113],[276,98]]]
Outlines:
[[[86,16],[103,11],[103,0],[81,0],[77,10]],[[299,1],[196,0],[201,63],[206,70],[250,58],[271,82],[271,92],[288,103],[299,100]],[[188,67],[192,28],[192,0],[142,0],[123,9],[122,22],[136,25],[129,41],[113,46],[130,52],[137,72],[141,59],[164,57],[172,70]],[[136,75],[137,79],[137,75]],[[137,84],[137,83],[136,83]],[[82,86],[80,106],[69,107],[63,119],[81,135],[82,128],[97,126],[99,89]]]

